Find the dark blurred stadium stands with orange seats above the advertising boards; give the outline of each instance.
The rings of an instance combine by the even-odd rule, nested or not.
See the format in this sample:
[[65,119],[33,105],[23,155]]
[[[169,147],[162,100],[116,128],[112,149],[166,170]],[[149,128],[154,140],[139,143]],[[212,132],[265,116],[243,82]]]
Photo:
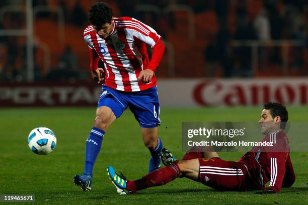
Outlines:
[[[35,81],[91,80],[83,31],[89,25],[88,10],[96,2],[33,0],[33,9],[60,8],[65,23],[61,30],[52,10],[34,15]],[[163,37],[167,49],[157,70],[161,79],[308,74],[306,1],[105,2],[115,17],[134,17]],[[0,11],[25,5],[2,0]],[[174,9],[176,5],[180,10]],[[23,12],[3,12],[0,29],[25,29],[25,19]],[[27,80],[26,41],[25,36],[0,36],[0,82]]]

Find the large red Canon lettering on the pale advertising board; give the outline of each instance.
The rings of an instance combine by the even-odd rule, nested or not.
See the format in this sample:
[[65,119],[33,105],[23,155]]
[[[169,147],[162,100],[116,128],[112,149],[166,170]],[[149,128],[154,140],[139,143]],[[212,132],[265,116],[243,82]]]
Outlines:
[[197,84],[193,97],[201,106],[262,105],[268,101],[282,104],[307,104],[308,83],[270,81],[218,81]]

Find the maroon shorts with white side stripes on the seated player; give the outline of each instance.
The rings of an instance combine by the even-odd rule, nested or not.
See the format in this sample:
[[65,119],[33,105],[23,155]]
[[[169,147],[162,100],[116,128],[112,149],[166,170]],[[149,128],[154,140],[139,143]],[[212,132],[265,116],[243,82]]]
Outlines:
[[204,185],[217,190],[249,189],[249,174],[243,163],[218,157],[199,158],[199,163],[199,177]]

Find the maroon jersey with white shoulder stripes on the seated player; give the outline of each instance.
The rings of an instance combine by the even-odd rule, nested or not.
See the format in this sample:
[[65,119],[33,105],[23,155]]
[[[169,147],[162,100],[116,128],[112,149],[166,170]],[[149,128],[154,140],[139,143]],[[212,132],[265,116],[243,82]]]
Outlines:
[[283,183],[295,180],[295,174],[290,159],[289,141],[283,130],[266,135],[261,142],[273,143],[273,146],[253,147],[240,162],[248,168],[251,179],[259,188],[269,181],[269,189],[279,192]]

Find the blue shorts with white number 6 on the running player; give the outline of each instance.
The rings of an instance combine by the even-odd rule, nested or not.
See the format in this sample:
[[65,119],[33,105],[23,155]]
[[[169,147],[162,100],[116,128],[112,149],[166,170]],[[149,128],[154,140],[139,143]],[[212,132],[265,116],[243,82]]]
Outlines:
[[161,125],[156,86],[142,91],[125,92],[103,85],[97,107],[101,106],[110,108],[117,118],[129,106],[142,128],[155,128]]

